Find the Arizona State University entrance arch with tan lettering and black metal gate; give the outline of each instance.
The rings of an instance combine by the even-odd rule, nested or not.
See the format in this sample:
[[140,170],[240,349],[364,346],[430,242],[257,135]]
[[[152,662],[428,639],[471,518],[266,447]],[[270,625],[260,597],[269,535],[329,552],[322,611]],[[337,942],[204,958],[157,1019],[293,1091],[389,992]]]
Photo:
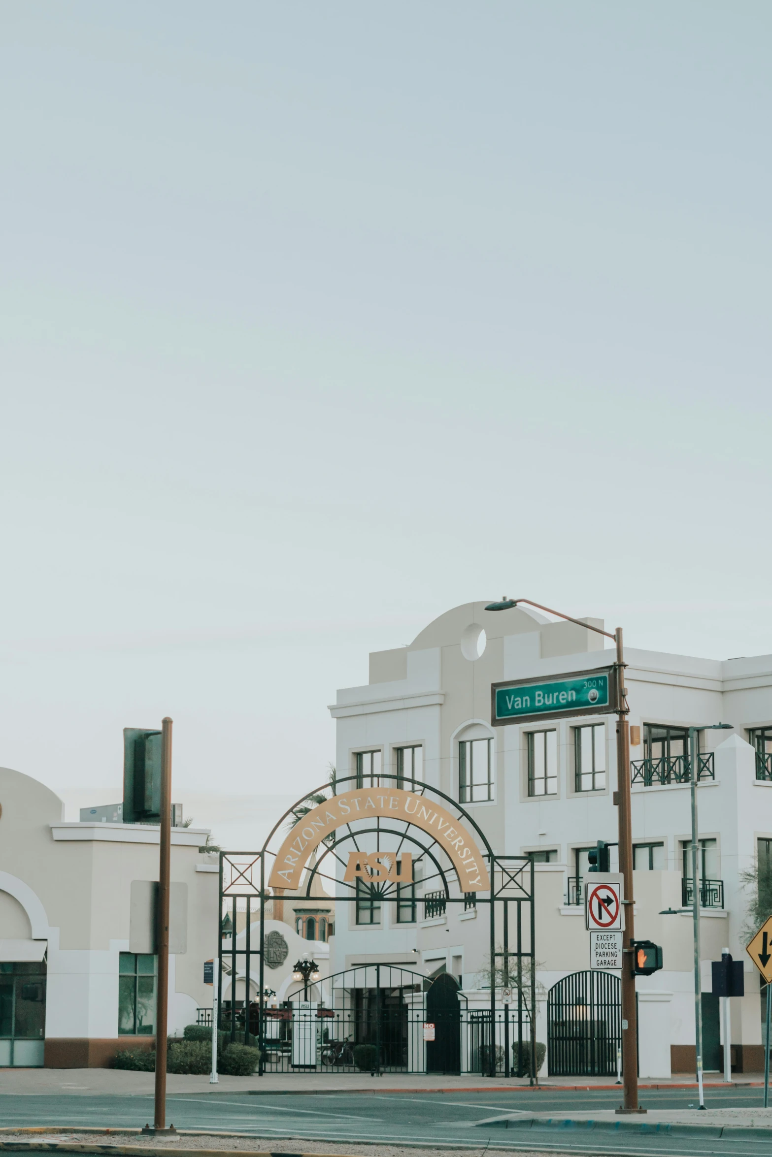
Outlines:
[[[221,1027],[231,1039],[242,1032],[244,1039],[258,1038],[260,1073],[426,1073],[428,1066],[510,1076],[532,1068],[524,1067],[535,1053],[532,861],[494,854],[473,817],[439,788],[385,774],[322,784],[278,819],[259,852],[221,853],[220,879],[221,919],[230,929],[222,939],[223,965],[253,983],[253,1000],[244,998],[241,1009],[236,1001],[225,1008],[220,1002]],[[416,963],[397,966],[394,951],[389,959],[383,928],[383,960],[370,950],[366,961],[341,968],[340,960],[336,971],[332,945],[331,975],[307,975],[281,989],[280,1002],[270,1001],[266,981],[275,977],[277,945],[275,933],[264,931],[266,902],[286,904],[288,894],[311,898],[313,889],[318,897],[319,882],[334,896],[338,913],[341,905],[356,906],[354,935],[368,906],[380,914],[392,900],[395,912],[406,912],[417,937]],[[426,921],[441,923],[459,913],[480,921],[454,933],[473,929],[469,951],[473,942],[483,965],[466,977],[463,990],[461,977],[447,973],[444,964],[438,968],[431,963],[438,952],[429,952],[427,942],[424,956],[420,944]],[[400,931],[404,953],[404,923]],[[218,982],[222,993],[221,975]]]

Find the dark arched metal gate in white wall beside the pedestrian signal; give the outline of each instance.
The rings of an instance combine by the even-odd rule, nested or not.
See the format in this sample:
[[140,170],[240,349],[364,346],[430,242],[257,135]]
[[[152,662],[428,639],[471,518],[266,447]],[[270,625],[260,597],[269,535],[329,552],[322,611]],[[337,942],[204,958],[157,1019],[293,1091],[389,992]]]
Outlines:
[[622,1047],[622,983],[612,972],[574,972],[550,989],[550,1076],[615,1076]]

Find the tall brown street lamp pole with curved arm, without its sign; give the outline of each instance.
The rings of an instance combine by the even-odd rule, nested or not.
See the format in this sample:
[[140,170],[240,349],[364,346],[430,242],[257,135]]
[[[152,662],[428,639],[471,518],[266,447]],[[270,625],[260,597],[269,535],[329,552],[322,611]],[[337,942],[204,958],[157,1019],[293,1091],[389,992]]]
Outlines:
[[538,611],[546,611],[566,622],[575,622],[586,631],[595,631],[598,635],[605,635],[613,640],[617,648],[617,817],[619,827],[619,871],[623,879],[625,911],[625,930],[623,933],[623,949],[626,964],[622,970],[622,1064],[624,1077],[624,1104],[617,1113],[645,1113],[638,1104],[638,1009],[635,1007],[635,975],[633,973],[633,948],[635,939],[634,926],[634,897],[633,897],[633,828],[631,816],[631,791],[630,791],[630,727],[627,723],[627,699],[624,685],[625,659],[622,642],[622,627],[611,634],[601,631],[590,622],[582,622],[581,619],[572,619],[569,614],[561,611],[553,611],[550,606],[542,606],[530,598],[503,598],[500,603],[491,603],[486,611],[507,611],[519,603],[525,603]]

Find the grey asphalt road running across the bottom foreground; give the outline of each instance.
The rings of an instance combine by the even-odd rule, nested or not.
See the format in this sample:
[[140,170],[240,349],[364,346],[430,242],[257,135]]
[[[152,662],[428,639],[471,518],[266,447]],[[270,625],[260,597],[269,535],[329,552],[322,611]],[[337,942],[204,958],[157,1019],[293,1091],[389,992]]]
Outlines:
[[[646,1090],[648,1108],[685,1110],[694,1104],[690,1091]],[[502,1129],[479,1125],[502,1113],[571,1112],[616,1108],[619,1095],[587,1092],[516,1093],[323,1093],[174,1095],[167,1101],[167,1121],[184,1129],[249,1133],[278,1142],[313,1137],[337,1143],[370,1141],[426,1147],[469,1145],[478,1152],[494,1149],[557,1150],[583,1154],[634,1154],[638,1157],[678,1154],[682,1157],[766,1157],[770,1140],[712,1140],[708,1137],[635,1136],[581,1130]],[[760,1089],[731,1089],[711,1093],[713,1108],[759,1107]],[[111,1126],[138,1127],[153,1120],[152,1096],[0,1096],[3,1126]]]

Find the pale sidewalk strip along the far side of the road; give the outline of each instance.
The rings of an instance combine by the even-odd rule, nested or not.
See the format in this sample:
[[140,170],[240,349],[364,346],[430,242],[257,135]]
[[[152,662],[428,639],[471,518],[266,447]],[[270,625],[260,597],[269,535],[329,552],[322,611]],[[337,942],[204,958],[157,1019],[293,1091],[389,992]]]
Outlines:
[[[0,1095],[20,1097],[41,1095],[73,1096],[148,1096],[154,1091],[153,1073],[131,1073],[125,1069],[0,1069]],[[762,1074],[737,1074],[733,1085],[756,1085],[764,1083]],[[669,1081],[641,1081],[639,1089],[696,1089],[692,1074],[676,1074]],[[729,1089],[723,1081],[706,1079],[706,1091],[709,1089]],[[609,1077],[582,1077],[581,1081],[569,1077],[546,1077],[538,1086],[530,1086],[527,1078],[481,1077],[478,1074],[463,1076],[409,1076],[403,1073],[387,1073],[382,1077],[369,1074],[345,1073],[269,1073],[263,1077],[227,1077],[221,1076],[219,1083],[209,1084],[208,1076],[167,1077],[169,1095],[196,1092],[234,1093],[383,1093],[383,1092],[515,1092],[519,1090],[536,1092],[554,1092],[557,1090],[608,1089],[618,1091],[622,1086]]]

